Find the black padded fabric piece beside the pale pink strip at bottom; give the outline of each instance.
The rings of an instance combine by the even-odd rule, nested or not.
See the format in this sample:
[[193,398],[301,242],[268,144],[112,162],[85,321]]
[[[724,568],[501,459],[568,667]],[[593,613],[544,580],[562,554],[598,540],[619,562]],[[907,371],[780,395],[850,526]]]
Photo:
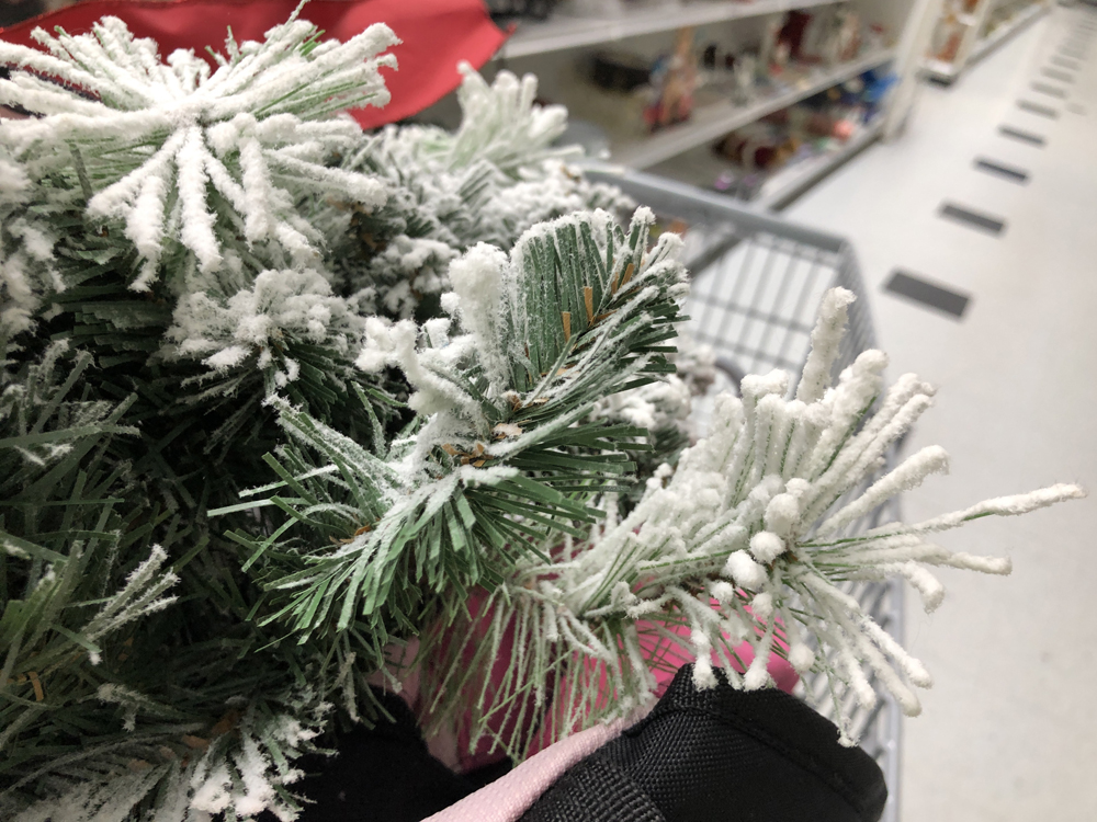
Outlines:
[[[780,690],[693,687],[679,670],[659,704],[574,766],[522,822],[631,822],[648,797],[666,822],[875,822],[887,789],[864,751]],[[562,796],[573,794],[573,796]],[[622,797],[621,812],[604,797]],[[567,809],[563,813],[562,809]],[[630,813],[632,815],[630,815]]]

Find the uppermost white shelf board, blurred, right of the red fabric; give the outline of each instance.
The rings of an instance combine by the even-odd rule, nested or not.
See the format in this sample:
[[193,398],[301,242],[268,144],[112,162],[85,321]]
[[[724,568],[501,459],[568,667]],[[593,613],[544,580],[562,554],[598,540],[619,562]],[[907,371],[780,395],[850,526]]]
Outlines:
[[668,32],[689,25],[756,18],[793,9],[833,5],[839,0],[695,0],[648,9],[630,9],[618,18],[573,18],[553,14],[544,22],[523,22],[499,49],[511,59],[568,48],[612,43],[642,34]]

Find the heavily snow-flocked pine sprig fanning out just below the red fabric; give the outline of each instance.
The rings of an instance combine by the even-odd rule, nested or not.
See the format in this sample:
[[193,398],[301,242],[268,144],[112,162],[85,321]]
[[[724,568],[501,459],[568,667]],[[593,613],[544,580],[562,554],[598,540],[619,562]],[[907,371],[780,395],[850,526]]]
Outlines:
[[[285,264],[316,264],[320,235],[296,197],[384,202],[378,181],[329,167],[361,136],[351,118],[332,115],[388,102],[378,69],[395,58],[381,53],[399,41],[376,24],[347,43],[320,42],[298,19],[303,5],[263,43],[229,37],[212,73],[192,52],[161,60],[154,41],[116,18],[87,35],[35,30],[48,54],[0,42],[0,62],[21,69],[0,80],[0,104],[44,115],[5,122],[5,142],[36,176],[79,168],[88,215],[123,220],[145,260],[134,288],[148,288],[177,239],[203,272],[239,267],[239,254],[223,248],[238,233],[249,246],[272,243]],[[226,212],[238,225],[218,225]]]

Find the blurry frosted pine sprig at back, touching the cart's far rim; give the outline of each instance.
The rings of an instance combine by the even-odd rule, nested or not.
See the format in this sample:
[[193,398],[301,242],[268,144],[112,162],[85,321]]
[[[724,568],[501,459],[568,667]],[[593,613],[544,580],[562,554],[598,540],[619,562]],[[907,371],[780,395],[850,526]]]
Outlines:
[[[357,228],[365,249],[332,254],[348,290],[377,313],[408,319],[425,296],[449,290],[450,263],[477,242],[509,249],[538,222],[634,207],[619,190],[565,165],[574,150],[552,142],[566,112],[534,103],[536,78],[502,70],[489,85],[468,66],[462,71],[456,134],[387,126],[344,160],[343,168],[374,175],[393,192],[380,209],[355,209],[352,233]],[[350,219],[346,209],[329,216]],[[328,233],[340,232],[347,230]]]

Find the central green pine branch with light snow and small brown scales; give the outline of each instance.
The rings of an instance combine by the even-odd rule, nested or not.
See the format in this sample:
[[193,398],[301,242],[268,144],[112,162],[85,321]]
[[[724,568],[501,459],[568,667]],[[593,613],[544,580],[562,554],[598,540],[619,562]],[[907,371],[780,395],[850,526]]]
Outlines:
[[[297,481],[296,496],[263,501],[315,529],[306,567],[273,585],[290,595],[275,617],[299,641],[354,619],[387,633],[380,615],[394,603],[407,605],[388,619],[411,625],[423,595],[496,584],[529,539],[583,537],[597,522],[588,503],[634,471],[621,449],[648,446],[637,442],[644,429],[586,418],[606,396],[674,370],[661,343],[675,334],[683,272],[674,235],[648,251],[653,219],[642,209],[624,231],[606,213],[561,218],[527,232],[509,260],[476,247],[450,270],[446,307],[466,334],[450,338],[450,323],[434,320],[420,346],[410,321],[367,323],[358,364],[398,364],[410,408],[429,418],[399,459],[279,402],[287,433],[338,469],[307,480],[338,479],[344,491],[337,502]],[[335,549],[331,517],[349,532]],[[274,545],[238,539],[249,566]],[[403,570],[411,558],[414,572]],[[414,590],[394,590],[402,580]]]

